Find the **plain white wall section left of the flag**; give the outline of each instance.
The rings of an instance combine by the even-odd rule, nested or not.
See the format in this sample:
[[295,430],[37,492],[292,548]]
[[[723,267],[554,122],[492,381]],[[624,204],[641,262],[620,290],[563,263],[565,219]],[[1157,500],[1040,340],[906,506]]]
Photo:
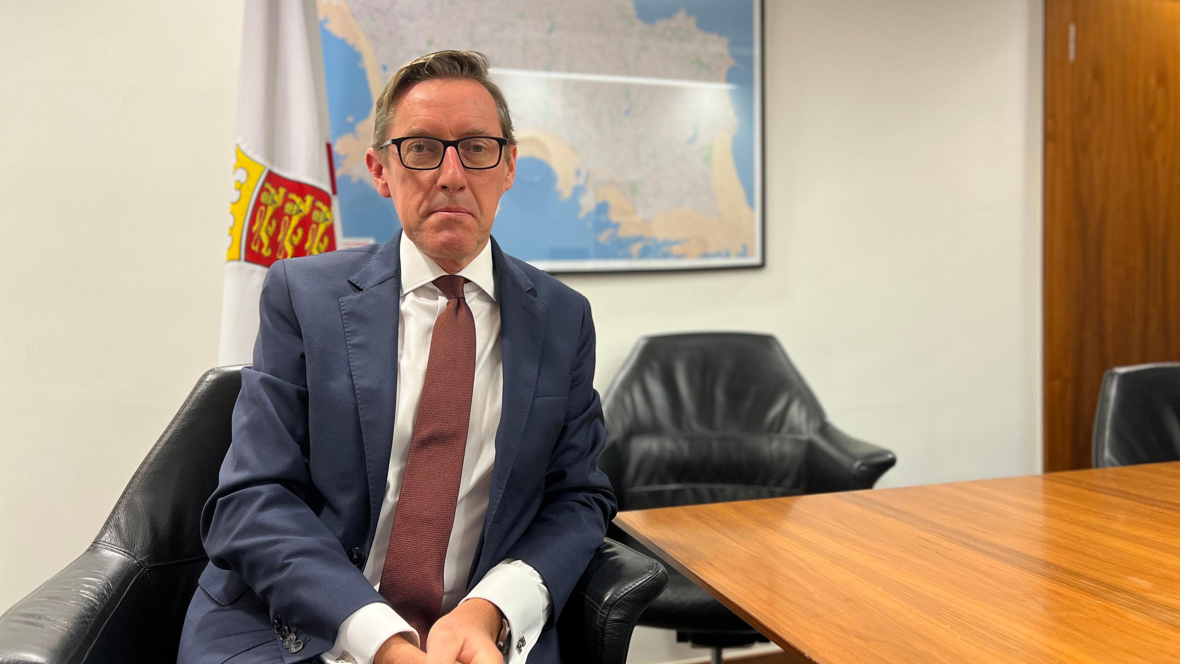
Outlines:
[[0,610],[216,363],[241,0],[0,4]]

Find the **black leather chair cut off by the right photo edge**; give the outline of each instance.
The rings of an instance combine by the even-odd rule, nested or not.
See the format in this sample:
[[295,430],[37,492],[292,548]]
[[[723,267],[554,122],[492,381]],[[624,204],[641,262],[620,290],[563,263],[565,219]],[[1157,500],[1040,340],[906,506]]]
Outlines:
[[1106,372],[1093,454],[1095,468],[1180,461],[1180,363]]

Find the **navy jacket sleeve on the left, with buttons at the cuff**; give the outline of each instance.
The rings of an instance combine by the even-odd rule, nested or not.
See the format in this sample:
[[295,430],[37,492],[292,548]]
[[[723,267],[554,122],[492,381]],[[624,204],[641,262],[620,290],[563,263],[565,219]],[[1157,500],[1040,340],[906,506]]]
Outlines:
[[385,601],[320,521],[308,457],[303,339],[278,261],[262,286],[254,366],[242,370],[232,442],[201,535],[215,566],[236,572],[273,620],[301,632],[303,647],[284,652],[288,662],[328,650],[345,618]]

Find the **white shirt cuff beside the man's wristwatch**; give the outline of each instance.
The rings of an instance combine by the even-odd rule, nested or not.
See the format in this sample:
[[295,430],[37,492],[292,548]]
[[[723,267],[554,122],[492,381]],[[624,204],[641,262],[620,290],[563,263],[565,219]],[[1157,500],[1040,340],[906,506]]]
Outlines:
[[509,652],[505,664],[522,664],[549,621],[552,599],[540,574],[523,560],[506,559],[487,571],[464,600],[486,599],[509,621]]

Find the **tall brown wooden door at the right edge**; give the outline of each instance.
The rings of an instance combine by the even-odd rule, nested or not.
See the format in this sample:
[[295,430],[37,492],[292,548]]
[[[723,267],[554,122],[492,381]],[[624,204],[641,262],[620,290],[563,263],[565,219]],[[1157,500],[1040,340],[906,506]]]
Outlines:
[[1047,0],[1044,469],[1102,373],[1180,360],[1180,0]]

